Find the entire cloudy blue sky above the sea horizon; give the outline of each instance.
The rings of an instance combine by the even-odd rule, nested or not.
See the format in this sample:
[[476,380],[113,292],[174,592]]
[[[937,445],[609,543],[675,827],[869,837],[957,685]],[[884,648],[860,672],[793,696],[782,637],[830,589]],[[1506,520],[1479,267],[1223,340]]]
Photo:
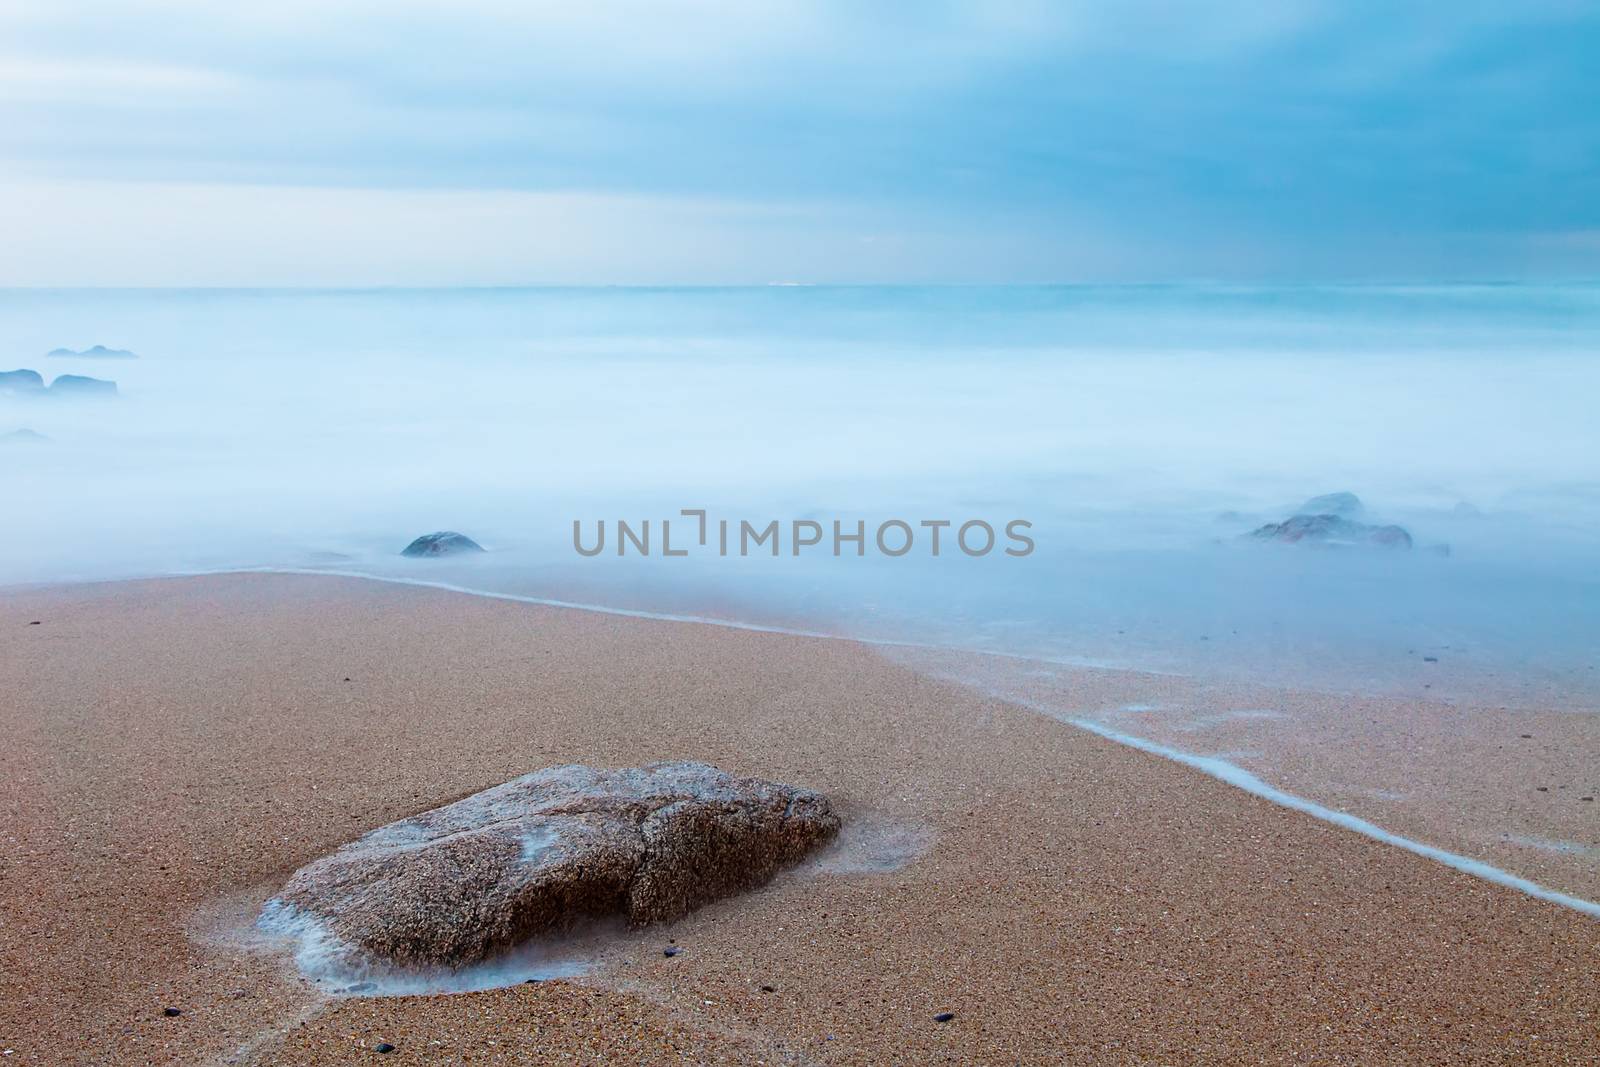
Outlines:
[[0,283],[1597,277],[1595,56],[1546,0],[0,0]]

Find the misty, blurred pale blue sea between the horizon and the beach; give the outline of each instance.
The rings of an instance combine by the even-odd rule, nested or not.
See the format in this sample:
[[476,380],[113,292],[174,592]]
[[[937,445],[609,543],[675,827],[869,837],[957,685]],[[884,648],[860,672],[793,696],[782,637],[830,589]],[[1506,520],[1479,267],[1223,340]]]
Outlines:
[[[43,358],[91,344],[142,358]],[[1597,688],[1597,286],[0,291],[19,366],[122,397],[0,397],[0,435],[50,438],[0,446],[0,582],[326,565],[1294,685]],[[1334,490],[1450,555],[1238,542]],[[1026,518],[1038,547],[571,549],[574,518],[683,507]],[[493,552],[394,558],[440,528]]]

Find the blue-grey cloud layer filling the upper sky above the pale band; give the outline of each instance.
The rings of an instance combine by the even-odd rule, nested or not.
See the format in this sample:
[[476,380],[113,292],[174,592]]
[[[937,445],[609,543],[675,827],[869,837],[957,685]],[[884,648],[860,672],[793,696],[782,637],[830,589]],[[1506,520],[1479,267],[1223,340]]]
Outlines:
[[[1597,50],[1600,16],[1557,2],[0,0],[0,166],[821,205],[840,234],[1026,248],[1018,278],[1362,274],[1363,237],[1498,277],[1600,227]],[[1046,246],[1075,235],[1102,254]]]

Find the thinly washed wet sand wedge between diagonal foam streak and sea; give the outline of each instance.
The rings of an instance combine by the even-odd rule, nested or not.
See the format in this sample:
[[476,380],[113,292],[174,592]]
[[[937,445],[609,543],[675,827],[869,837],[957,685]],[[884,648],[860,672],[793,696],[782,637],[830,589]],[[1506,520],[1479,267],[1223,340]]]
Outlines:
[[1221,757],[1296,797],[1600,901],[1600,707],[1330,694],[949,651],[891,656],[1064,721]]

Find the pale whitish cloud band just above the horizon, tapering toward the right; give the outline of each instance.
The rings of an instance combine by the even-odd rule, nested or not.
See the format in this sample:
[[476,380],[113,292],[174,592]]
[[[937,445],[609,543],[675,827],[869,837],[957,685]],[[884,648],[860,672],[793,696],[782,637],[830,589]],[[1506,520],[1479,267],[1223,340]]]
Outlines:
[[0,184],[0,286],[1043,280],[1123,254],[829,203],[174,182]]

